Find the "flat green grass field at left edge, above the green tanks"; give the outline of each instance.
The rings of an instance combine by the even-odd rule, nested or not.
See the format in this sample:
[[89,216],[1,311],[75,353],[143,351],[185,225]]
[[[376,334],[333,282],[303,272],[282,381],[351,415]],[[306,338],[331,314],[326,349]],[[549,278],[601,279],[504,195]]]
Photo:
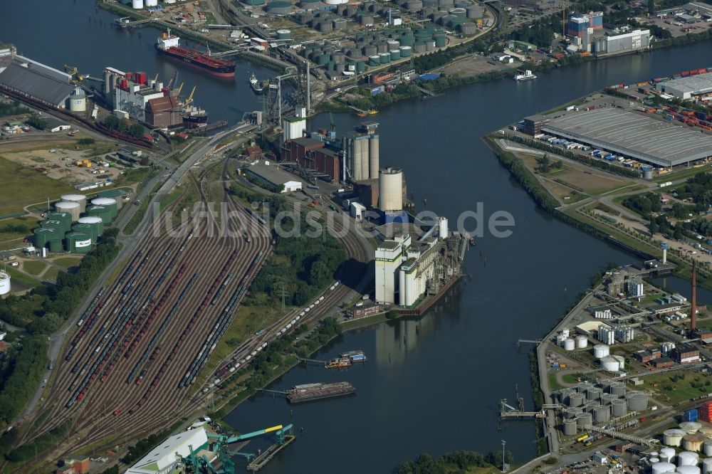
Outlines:
[[60,194],[75,191],[66,181],[48,178],[0,157],[0,215],[19,212],[28,204],[57,199]]

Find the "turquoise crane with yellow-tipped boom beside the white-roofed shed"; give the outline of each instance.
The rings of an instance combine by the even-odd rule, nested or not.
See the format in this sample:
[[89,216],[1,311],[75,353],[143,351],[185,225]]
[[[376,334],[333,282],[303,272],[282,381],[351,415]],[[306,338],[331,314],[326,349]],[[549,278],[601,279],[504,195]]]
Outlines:
[[[263,430],[253,431],[251,433],[246,433],[244,435],[239,436],[225,436],[208,433],[208,443],[206,447],[212,453],[217,453],[219,455],[224,474],[235,474],[235,463],[232,462],[232,456],[242,455],[248,460],[251,460],[252,458],[255,458],[256,455],[254,455],[253,453],[228,451],[228,446],[233,443],[248,441],[252,438],[263,436],[267,433],[275,432],[277,435],[276,446],[281,447],[284,446],[286,443],[290,442],[291,439],[293,439],[293,436],[290,434],[292,427],[293,426],[291,424],[288,424],[287,426],[277,425],[272,426],[271,428],[265,428]],[[198,454],[198,451],[201,451],[200,449],[198,449],[197,451],[193,451],[192,446],[190,447],[190,449],[190,454],[182,458],[182,463],[186,470],[188,470],[189,472],[192,471],[193,473],[217,473],[217,471],[211,465],[207,456],[204,454]]]

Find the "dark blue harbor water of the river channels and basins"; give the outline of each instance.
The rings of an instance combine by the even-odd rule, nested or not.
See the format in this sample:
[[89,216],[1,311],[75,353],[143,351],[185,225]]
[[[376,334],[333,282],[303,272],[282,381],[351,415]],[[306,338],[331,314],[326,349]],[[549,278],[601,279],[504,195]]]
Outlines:
[[[57,68],[66,63],[98,75],[111,65],[149,75],[159,72],[164,81],[175,70],[153,51],[157,30],[112,28],[115,17],[95,12],[92,2],[28,0],[10,4],[6,11],[0,17],[0,40],[16,43],[19,52]],[[30,20],[58,24],[59,32],[27,28]],[[404,168],[409,197],[413,191],[418,209],[426,199],[426,208],[448,217],[452,228],[462,213],[476,211],[481,203],[485,219],[496,211],[512,214],[513,234],[495,238],[485,230],[466,258],[466,273],[473,280],[463,281],[421,319],[347,333],[314,356],[329,359],[362,349],[367,364],[344,372],[295,367],[268,386],[283,390],[349,381],[355,395],[298,406],[262,395],[229,414],[227,421],[242,433],[294,424],[298,440],[262,472],[390,473],[420,453],[486,453],[501,449],[502,440],[515,461],[533,457],[533,423],[506,423],[500,431],[497,420],[498,400],[513,400],[515,386],[532,407],[528,355],[516,351],[517,339],[545,335],[605,263],[637,258],[537,209],[480,137],[606,85],[705,67],[701,61],[708,48],[708,43],[699,43],[537,73],[537,80],[522,83],[468,85],[433,100],[401,102],[369,117],[380,124],[382,166]],[[260,78],[271,75],[243,62],[232,81],[179,71],[185,87],[197,85],[196,102],[209,110],[211,120],[230,122],[246,110],[261,108],[249,89],[248,71]],[[360,121],[349,114],[334,118],[340,132]],[[328,122],[328,115],[320,115],[310,127],[328,127]],[[473,220],[466,225],[472,230]],[[246,451],[256,452],[260,443],[248,444]],[[236,463],[244,460],[236,458]]]

